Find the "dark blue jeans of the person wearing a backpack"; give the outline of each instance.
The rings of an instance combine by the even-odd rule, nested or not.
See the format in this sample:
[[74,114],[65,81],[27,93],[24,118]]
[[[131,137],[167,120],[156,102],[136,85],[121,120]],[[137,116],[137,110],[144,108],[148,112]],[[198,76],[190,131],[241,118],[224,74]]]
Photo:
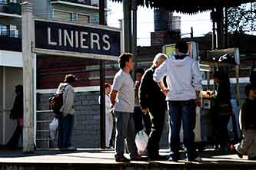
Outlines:
[[58,116],[58,148],[67,149],[71,147],[71,138],[74,129],[75,116]]

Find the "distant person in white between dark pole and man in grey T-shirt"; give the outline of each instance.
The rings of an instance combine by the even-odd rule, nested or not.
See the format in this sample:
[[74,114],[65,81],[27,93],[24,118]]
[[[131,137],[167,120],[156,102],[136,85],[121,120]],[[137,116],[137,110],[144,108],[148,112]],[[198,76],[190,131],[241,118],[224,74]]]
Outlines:
[[[105,146],[107,149],[110,149],[110,140],[113,129],[113,116],[111,113],[111,84],[105,83]],[[98,103],[101,104],[101,96],[98,96]]]

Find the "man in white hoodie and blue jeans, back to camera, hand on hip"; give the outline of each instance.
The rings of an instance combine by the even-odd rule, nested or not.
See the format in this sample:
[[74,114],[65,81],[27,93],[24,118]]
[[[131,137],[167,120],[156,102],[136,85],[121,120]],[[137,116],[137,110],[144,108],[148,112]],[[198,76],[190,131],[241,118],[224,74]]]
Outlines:
[[[193,147],[196,106],[201,105],[201,72],[198,62],[188,57],[188,44],[179,41],[176,54],[155,70],[153,78],[158,82],[168,101],[170,118],[170,161],[178,162],[180,149],[181,121],[184,129],[185,155],[188,162],[196,160]],[[163,78],[166,76],[168,87]]]

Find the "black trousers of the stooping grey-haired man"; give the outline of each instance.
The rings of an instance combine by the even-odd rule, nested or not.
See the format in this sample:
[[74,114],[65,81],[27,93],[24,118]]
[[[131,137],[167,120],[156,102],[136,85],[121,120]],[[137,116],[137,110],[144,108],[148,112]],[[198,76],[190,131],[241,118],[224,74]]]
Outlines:
[[159,155],[159,142],[165,125],[165,109],[149,109],[151,132],[148,139],[148,156],[153,158]]

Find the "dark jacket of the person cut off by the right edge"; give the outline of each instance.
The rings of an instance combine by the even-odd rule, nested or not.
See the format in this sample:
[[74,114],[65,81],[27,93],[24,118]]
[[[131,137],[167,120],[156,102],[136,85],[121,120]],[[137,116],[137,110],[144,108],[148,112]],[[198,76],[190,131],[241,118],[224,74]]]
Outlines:
[[256,129],[256,101],[246,99],[241,109],[242,129]]

